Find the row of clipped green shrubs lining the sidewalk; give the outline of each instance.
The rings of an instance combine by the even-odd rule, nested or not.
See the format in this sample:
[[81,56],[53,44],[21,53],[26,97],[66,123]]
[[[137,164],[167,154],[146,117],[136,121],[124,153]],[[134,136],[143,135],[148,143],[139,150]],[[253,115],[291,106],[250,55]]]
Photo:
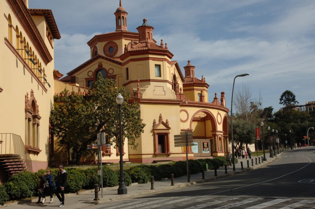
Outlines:
[[[235,159],[237,163],[237,159]],[[189,170],[191,174],[202,172],[206,169],[214,169],[226,164],[225,157],[216,157],[214,159],[189,160]],[[36,196],[37,185],[39,183],[38,175],[46,170],[39,170],[35,173],[20,172],[9,178],[7,182],[0,185],[0,205],[5,201],[18,200],[26,197]],[[53,178],[57,177],[58,169],[51,169]],[[68,180],[66,192],[77,192],[80,189],[93,189],[94,184],[98,184],[97,168],[66,168]],[[125,184],[129,186],[133,182],[145,184],[153,176],[155,180],[169,178],[173,173],[174,177],[186,175],[186,161],[177,161],[173,164],[162,164],[159,166],[139,165],[130,168],[124,172]],[[103,166],[103,187],[113,187],[119,184],[119,171],[113,171],[108,166]]]

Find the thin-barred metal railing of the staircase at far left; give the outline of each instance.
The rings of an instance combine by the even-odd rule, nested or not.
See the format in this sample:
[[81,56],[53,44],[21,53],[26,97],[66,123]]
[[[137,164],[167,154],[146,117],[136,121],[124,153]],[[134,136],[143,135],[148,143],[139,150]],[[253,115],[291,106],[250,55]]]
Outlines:
[[14,133],[0,133],[0,155],[18,155],[26,163],[28,171],[32,171],[32,160],[27,152],[21,136]]

